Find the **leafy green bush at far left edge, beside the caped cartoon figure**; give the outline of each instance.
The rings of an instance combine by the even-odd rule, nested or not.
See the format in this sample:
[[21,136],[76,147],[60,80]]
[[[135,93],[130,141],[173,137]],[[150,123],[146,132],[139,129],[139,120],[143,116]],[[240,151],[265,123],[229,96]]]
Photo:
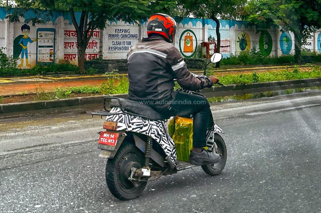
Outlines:
[[18,71],[16,68],[18,58],[7,56],[4,50],[4,47],[0,48],[0,75],[15,75]]

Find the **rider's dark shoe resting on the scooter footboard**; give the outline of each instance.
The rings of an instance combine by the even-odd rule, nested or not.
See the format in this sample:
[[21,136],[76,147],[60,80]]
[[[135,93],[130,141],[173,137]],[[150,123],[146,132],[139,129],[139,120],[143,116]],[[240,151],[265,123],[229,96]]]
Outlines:
[[216,164],[220,162],[221,157],[216,153],[210,153],[205,149],[202,152],[193,152],[189,154],[189,163],[194,165]]

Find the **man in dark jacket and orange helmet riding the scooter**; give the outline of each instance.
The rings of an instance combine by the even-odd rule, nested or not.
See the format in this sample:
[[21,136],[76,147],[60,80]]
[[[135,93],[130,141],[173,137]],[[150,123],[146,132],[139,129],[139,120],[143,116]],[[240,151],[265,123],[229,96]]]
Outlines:
[[196,165],[217,163],[220,155],[207,152],[206,130],[210,105],[201,95],[177,92],[174,79],[187,90],[212,87],[218,78],[195,77],[186,67],[179,50],[171,43],[176,33],[176,22],[169,15],[156,13],[147,22],[148,38],[132,47],[128,54],[130,100],[150,105],[167,116],[193,115],[193,148],[189,162]]

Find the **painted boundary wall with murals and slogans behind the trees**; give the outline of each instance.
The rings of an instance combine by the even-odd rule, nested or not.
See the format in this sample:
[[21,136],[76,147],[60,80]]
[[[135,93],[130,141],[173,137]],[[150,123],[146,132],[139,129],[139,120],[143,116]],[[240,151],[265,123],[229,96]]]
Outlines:
[[[7,14],[5,8],[0,7],[0,47],[6,48],[7,55],[19,57],[19,67],[28,69],[36,64],[48,65],[63,61],[77,64],[76,31],[68,12],[55,11],[49,22],[36,24],[35,27],[30,24],[30,30],[28,26],[22,27],[22,18],[17,23],[8,22],[5,19]],[[25,18],[32,15],[30,11]],[[80,13],[76,14],[76,19],[80,19]],[[207,41],[210,35],[216,38],[216,23],[213,20],[184,18],[182,21],[177,20],[177,24],[174,45],[185,58],[201,56],[201,43]],[[221,53],[224,57],[238,55],[254,46],[267,56],[294,53],[294,35],[291,32],[282,33],[273,28],[256,32],[256,28],[248,26],[245,21],[220,20],[220,24]],[[304,45],[306,49],[321,53],[320,31],[311,34]],[[94,30],[87,47],[86,60],[99,56],[103,59],[126,58],[127,51],[146,36],[146,22],[139,26],[108,21],[104,30]]]

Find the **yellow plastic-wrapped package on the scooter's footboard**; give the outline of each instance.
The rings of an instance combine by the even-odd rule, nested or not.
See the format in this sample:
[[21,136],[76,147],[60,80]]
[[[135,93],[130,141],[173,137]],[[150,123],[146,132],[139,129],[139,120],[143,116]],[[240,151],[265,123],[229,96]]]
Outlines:
[[188,162],[193,147],[193,119],[176,116],[175,131],[174,119],[172,119],[169,121],[168,132],[175,142],[177,160]]

